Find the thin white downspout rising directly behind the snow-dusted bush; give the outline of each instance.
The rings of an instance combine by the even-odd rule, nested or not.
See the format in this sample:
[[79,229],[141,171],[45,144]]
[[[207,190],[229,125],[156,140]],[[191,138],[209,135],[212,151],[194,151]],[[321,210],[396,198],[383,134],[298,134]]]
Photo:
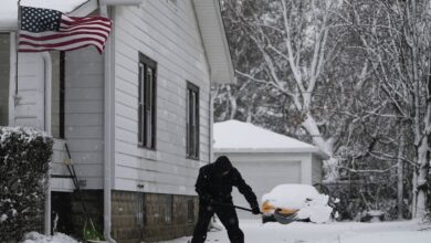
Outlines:
[[[51,98],[52,98],[52,60],[48,52],[42,53],[44,65],[44,130],[51,136]],[[45,235],[51,235],[51,165],[49,165],[46,176],[46,196],[45,196],[45,215],[44,215]]]

